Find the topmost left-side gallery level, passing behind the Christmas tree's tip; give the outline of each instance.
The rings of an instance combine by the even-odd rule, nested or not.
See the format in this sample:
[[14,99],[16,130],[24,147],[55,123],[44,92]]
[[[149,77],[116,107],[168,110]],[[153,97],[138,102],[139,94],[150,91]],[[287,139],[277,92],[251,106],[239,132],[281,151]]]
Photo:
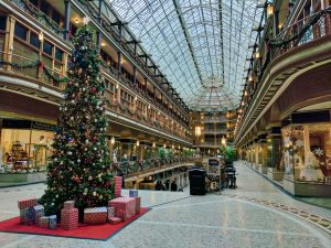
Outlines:
[[[134,37],[130,37],[130,32],[126,28],[122,26],[122,36],[119,36],[120,28],[111,24],[114,20],[117,20],[117,15],[110,10],[109,4],[103,1],[102,13],[96,13],[96,2],[98,1],[72,0],[68,1],[71,9],[66,12],[67,6],[64,2],[4,0],[1,4],[10,11],[14,11],[12,14],[18,15],[19,20],[26,20],[24,24],[34,25],[36,34],[41,31],[44,32],[45,36],[61,43],[60,47],[65,47],[68,51],[71,50],[71,40],[68,37],[75,33],[82,23],[81,17],[89,15],[92,24],[99,30],[103,36],[103,39],[98,40],[102,55],[108,53],[107,57],[113,61],[111,64],[109,61],[105,62],[104,67],[106,67],[106,71],[113,73],[117,79],[128,84],[130,87],[132,86],[132,88],[139,88],[140,86],[142,88],[145,85],[145,90],[136,91],[138,94],[145,93],[143,95],[146,98],[149,98],[149,101],[172,116],[181,125],[188,126],[188,109],[183,107],[182,101],[178,103],[178,99],[175,99],[178,97],[173,98],[173,90],[169,90],[171,87],[167,86],[163,80],[161,82],[161,77],[159,77],[160,72],[151,66],[152,61],[143,60],[142,55],[146,53],[141,46],[138,43],[129,42]],[[100,18],[97,19],[97,15]],[[121,65],[121,63],[118,63],[118,58],[120,61],[126,60],[127,64]],[[117,66],[114,66],[114,63]],[[153,97],[153,95],[160,95],[161,100],[159,97]]]

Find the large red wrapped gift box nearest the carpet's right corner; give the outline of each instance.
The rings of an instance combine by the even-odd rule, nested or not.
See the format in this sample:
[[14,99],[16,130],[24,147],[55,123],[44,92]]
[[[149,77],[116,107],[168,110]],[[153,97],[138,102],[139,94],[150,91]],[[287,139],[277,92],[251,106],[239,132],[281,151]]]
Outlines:
[[136,198],[134,197],[118,197],[108,202],[108,206],[115,208],[115,217],[124,220],[132,217],[136,214]]

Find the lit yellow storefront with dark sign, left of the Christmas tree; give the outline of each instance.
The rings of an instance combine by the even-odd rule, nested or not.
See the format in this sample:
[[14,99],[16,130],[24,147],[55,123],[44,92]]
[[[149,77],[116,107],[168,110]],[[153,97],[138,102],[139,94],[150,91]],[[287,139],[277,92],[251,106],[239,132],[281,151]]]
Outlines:
[[45,171],[52,155],[54,128],[31,120],[1,119],[0,173]]

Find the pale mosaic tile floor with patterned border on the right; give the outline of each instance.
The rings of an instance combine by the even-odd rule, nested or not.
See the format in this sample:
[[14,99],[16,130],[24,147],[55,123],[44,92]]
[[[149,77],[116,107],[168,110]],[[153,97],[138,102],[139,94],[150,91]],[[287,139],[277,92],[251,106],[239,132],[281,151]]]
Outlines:
[[[220,195],[140,191],[152,209],[107,241],[0,233],[0,247],[35,248],[322,248],[331,247],[331,211],[291,198],[242,163],[236,190]],[[35,184],[0,190],[0,219],[17,200],[43,193]],[[128,194],[124,191],[124,195]]]

